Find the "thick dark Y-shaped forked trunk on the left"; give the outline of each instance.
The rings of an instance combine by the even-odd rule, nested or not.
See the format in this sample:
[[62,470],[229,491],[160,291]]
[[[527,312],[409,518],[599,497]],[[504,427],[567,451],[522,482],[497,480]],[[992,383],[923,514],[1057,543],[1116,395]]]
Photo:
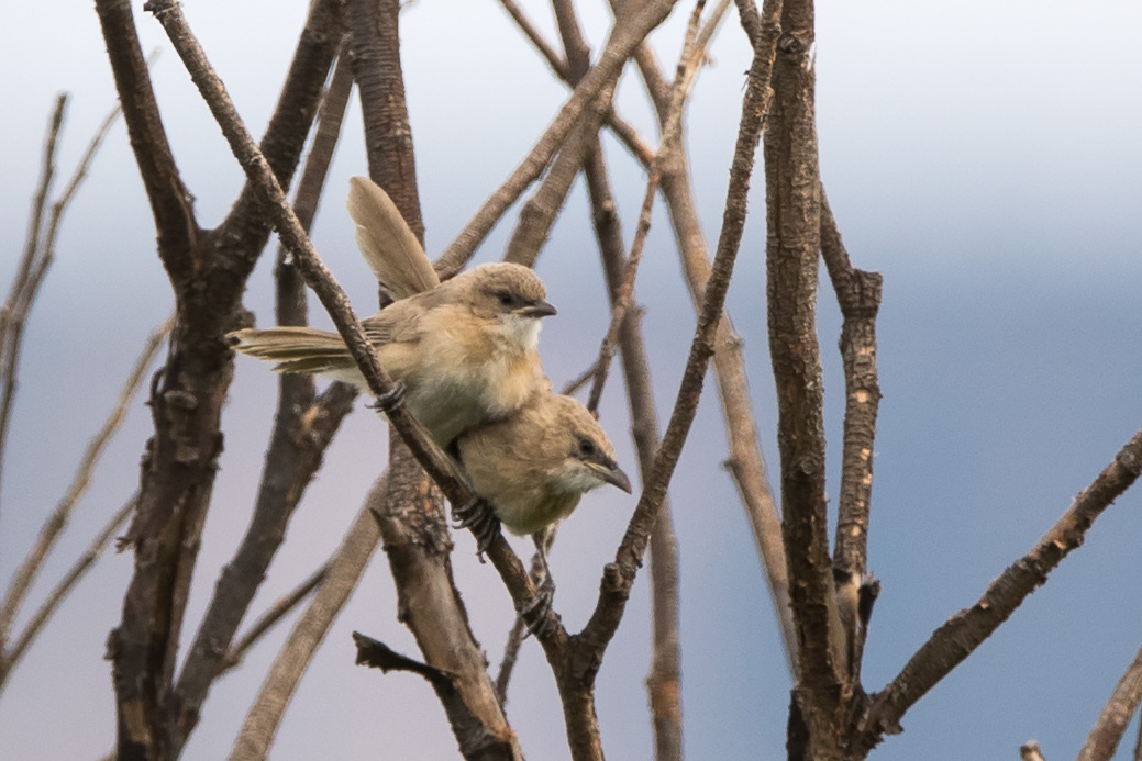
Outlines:
[[[336,50],[325,32],[335,24],[329,0],[311,7],[278,108],[264,137],[267,167],[288,181],[300,156],[322,84]],[[246,278],[268,233],[265,208],[250,183],[227,219],[211,234],[194,221],[186,189],[162,130],[138,49],[130,6],[96,3],[115,86],[151,200],[159,256],[175,290],[177,322],[167,365],[152,384],[155,434],[142,464],[139,502],[128,541],[135,573],[119,626],[108,637],[113,663],[120,758],[169,758],[178,744],[169,704],[179,632],[222,451],[220,411],[232,378],[223,340],[233,326]],[[147,9],[168,27],[179,21],[168,3]],[[174,35],[171,35],[174,39]],[[177,46],[176,46],[177,47]],[[180,50],[185,55],[185,50]],[[187,59],[184,58],[184,62]],[[224,89],[188,62],[201,88]],[[260,155],[259,155],[260,157]]]

